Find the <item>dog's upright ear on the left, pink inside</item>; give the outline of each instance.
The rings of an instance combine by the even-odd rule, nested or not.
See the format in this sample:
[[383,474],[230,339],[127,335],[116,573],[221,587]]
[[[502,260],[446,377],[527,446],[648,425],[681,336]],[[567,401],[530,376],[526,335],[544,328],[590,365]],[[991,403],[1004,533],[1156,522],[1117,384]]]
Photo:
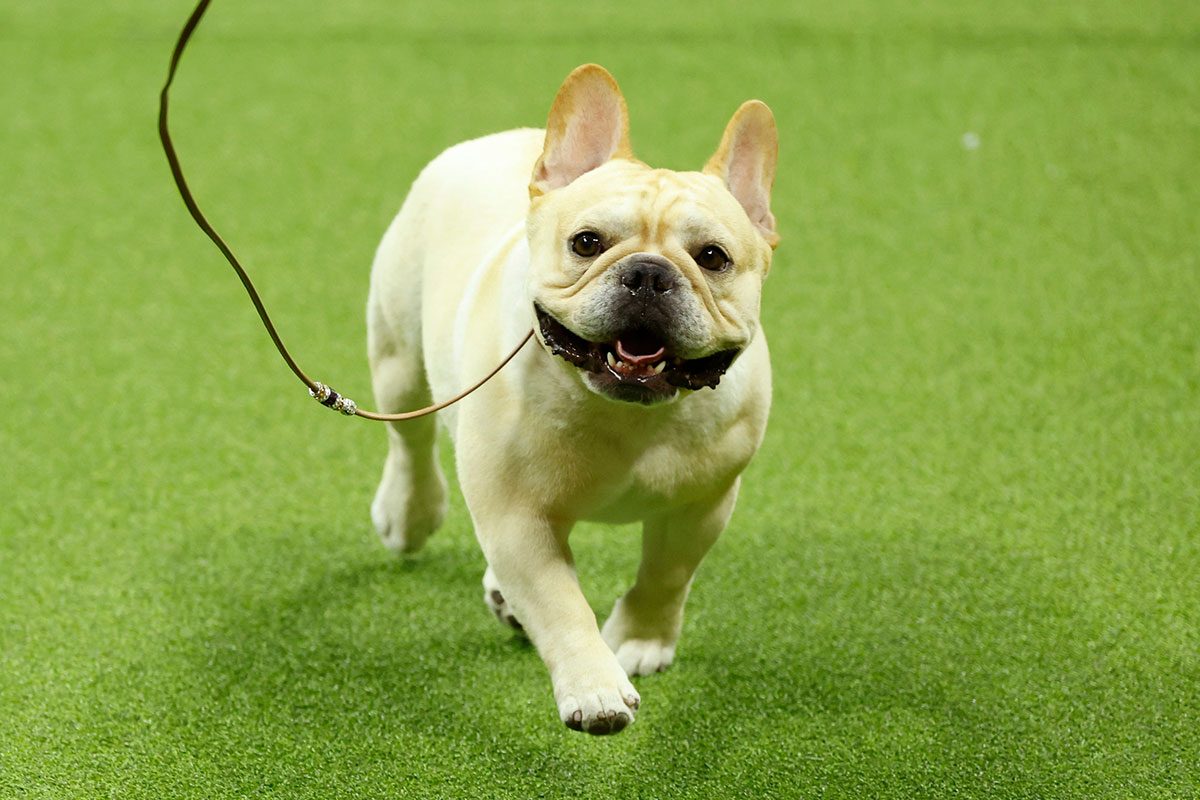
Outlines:
[[617,80],[604,67],[584,64],[566,76],[554,96],[529,197],[566,186],[612,158],[632,157],[629,110]]

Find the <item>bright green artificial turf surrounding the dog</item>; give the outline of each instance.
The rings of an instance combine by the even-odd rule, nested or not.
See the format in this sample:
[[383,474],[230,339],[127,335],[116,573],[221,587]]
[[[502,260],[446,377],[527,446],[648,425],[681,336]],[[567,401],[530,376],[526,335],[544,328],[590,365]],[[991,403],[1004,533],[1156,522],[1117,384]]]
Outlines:
[[[584,61],[659,166],[774,107],[770,429],[608,739],[486,612],[461,498],[383,551],[383,431],[186,217],[190,10],[0,0],[0,798],[1200,795],[1200,6],[214,5],[185,166],[360,401],[439,150]],[[601,615],[637,536],[576,533]]]

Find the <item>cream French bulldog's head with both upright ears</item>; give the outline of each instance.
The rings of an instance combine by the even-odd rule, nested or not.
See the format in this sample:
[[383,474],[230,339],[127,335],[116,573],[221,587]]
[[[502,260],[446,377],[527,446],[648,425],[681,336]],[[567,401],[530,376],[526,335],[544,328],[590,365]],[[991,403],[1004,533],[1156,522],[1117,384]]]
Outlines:
[[734,114],[702,172],[629,149],[616,82],[589,65],[559,90],[530,184],[530,296],[544,347],[593,391],[659,403],[715,387],[758,325],[778,241],[770,110]]

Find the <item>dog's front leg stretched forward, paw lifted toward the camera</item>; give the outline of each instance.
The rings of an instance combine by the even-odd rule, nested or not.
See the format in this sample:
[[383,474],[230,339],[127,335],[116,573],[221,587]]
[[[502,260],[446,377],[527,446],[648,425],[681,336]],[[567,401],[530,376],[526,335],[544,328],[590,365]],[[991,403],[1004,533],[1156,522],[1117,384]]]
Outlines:
[[570,528],[534,513],[475,521],[504,597],[550,669],[559,717],[576,730],[617,733],[634,721],[641,698],[580,589]]

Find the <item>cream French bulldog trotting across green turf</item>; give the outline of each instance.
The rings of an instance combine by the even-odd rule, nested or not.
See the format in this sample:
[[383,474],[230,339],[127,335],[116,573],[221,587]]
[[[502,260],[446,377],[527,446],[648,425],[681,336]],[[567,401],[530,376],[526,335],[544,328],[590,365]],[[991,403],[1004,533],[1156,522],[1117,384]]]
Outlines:
[[[367,303],[384,411],[452,396],[538,330],[539,345],[440,416],[485,600],[536,645],[563,722],[596,734],[634,720],[629,676],[671,663],[770,405],[770,110],[743,104],[698,173],[637,161],[628,127],[617,83],[588,65],[545,132],[446,150],[384,236]],[[371,517],[389,547],[415,551],[445,513],[432,417],[388,438]],[[637,581],[602,632],[568,546],[578,519],[642,522]]]

